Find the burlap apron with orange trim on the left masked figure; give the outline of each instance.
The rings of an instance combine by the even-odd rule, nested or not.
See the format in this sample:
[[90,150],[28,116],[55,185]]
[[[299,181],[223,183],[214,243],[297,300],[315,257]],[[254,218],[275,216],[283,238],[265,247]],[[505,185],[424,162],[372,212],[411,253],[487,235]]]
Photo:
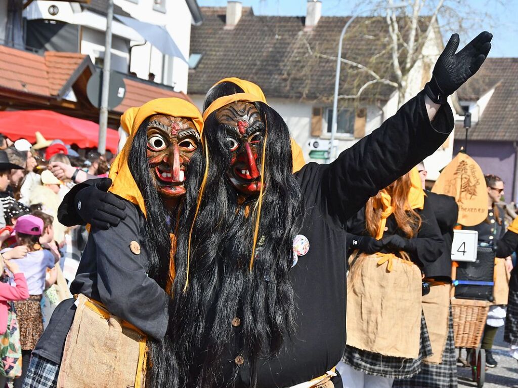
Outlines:
[[146,335],[79,294],[65,342],[58,388],[142,388]]

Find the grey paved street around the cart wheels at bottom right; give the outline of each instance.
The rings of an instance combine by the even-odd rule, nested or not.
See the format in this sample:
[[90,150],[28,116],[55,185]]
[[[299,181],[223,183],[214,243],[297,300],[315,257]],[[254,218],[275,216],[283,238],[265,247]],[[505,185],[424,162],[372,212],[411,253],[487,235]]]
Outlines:
[[[498,361],[496,368],[486,370],[486,383],[484,388],[513,387],[518,388],[518,363],[507,354],[507,343],[503,342],[503,327],[498,330],[493,353]],[[477,386],[471,380],[469,368],[458,368],[458,386]]]

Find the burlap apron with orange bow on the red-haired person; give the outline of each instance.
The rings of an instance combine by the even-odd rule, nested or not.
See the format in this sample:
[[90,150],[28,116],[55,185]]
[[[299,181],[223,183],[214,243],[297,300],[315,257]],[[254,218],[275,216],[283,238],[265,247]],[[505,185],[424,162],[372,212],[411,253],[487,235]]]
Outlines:
[[347,281],[347,344],[384,356],[418,358],[421,271],[392,254],[353,254]]

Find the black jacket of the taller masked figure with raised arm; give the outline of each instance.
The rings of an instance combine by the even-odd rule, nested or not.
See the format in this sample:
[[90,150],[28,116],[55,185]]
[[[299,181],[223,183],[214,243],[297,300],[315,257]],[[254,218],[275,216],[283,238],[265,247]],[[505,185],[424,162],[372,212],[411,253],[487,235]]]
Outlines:
[[[297,330],[276,357],[257,361],[258,387],[296,385],[322,376],[338,364],[346,344],[344,225],[369,197],[433,153],[452,127],[448,105],[439,109],[430,124],[420,93],[333,163],[309,163],[296,173],[306,207],[299,234],[309,240],[309,251],[298,257],[289,272],[296,295]],[[435,230],[440,240],[438,228]],[[234,326],[234,336],[221,360],[219,386],[250,386],[251,365],[239,353],[240,327]],[[340,378],[333,382],[335,387],[341,386]]]

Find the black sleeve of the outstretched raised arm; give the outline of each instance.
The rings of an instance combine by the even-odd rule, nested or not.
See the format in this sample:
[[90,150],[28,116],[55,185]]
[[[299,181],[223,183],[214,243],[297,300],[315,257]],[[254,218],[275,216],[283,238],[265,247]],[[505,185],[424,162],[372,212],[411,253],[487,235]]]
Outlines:
[[321,165],[322,212],[343,225],[371,196],[434,153],[453,126],[448,104],[441,105],[430,122],[420,92],[336,161]]

